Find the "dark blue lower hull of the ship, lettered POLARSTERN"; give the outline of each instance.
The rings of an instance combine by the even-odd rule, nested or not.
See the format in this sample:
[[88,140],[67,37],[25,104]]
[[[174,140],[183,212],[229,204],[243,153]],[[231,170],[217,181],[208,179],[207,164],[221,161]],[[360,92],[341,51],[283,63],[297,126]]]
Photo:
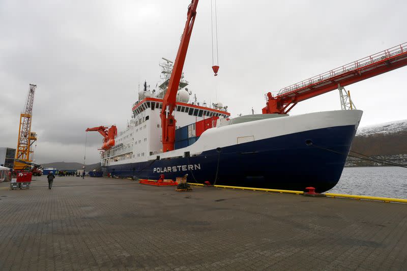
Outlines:
[[192,183],[300,191],[312,186],[325,192],[338,183],[355,133],[354,125],[310,130],[223,147],[220,153],[107,166],[104,172],[174,180],[188,173]]

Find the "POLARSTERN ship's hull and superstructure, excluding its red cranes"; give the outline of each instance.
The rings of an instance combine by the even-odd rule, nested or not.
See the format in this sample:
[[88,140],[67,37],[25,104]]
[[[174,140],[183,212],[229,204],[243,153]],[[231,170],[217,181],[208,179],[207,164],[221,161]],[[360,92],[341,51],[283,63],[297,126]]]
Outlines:
[[[172,62],[164,58],[163,82],[147,82],[132,105],[127,128],[101,153],[105,175],[140,179],[188,174],[192,183],[305,190],[334,187],[341,175],[362,111],[302,115],[251,114],[231,118],[227,106],[197,102],[181,79],[174,115],[175,149],[163,152],[160,112]],[[191,99],[191,97],[193,97]]]

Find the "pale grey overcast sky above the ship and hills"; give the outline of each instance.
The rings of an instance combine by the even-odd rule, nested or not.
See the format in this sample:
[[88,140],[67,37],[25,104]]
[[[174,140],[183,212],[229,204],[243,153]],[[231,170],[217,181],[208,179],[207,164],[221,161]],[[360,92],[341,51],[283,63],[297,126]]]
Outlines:
[[[0,146],[16,147],[28,85],[38,85],[32,131],[39,163],[83,162],[85,129],[131,116],[138,84],[174,59],[189,0],[0,0]],[[407,41],[406,1],[217,1],[219,75],[213,76],[210,1],[201,0],[184,66],[198,101],[232,116],[261,113],[264,94]],[[346,87],[361,126],[407,118],[407,68]],[[340,109],[337,91],[298,104]],[[86,164],[102,137],[88,133]]]

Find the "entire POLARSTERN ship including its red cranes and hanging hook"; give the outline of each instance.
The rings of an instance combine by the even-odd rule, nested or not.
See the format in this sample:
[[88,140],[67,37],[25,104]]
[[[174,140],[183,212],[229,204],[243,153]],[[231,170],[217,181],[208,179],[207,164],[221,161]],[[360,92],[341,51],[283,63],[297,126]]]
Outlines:
[[[188,6],[175,61],[163,58],[157,91],[144,83],[127,128],[86,130],[104,137],[104,174],[153,180],[186,176],[192,183],[314,187],[317,192],[334,187],[362,116],[344,86],[406,66],[407,43],[282,88],[275,96],[269,92],[262,114],[231,118],[222,103],[199,103],[183,76],[197,5],[192,0]],[[212,69],[216,76],[218,63]],[[288,114],[297,103],[334,90],[342,110]]]

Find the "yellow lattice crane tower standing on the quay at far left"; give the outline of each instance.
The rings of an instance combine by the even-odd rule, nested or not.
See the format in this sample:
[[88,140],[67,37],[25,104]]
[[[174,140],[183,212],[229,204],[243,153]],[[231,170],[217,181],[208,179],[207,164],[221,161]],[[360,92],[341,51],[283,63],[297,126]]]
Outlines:
[[[14,170],[23,170],[27,167],[26,163],[31,163],[31,154],[33,154],[33,143],[37,140],[37,134],[31,132],[31,122],[33,117],[34,94],[37,85],[30,84],[25,108],[20,114],[20,127],[18,130],[18,141],[16,160],[14,161]],[[21,162],[19,162],[21,161]],[[25,163],[22,163],[25,162]]]

